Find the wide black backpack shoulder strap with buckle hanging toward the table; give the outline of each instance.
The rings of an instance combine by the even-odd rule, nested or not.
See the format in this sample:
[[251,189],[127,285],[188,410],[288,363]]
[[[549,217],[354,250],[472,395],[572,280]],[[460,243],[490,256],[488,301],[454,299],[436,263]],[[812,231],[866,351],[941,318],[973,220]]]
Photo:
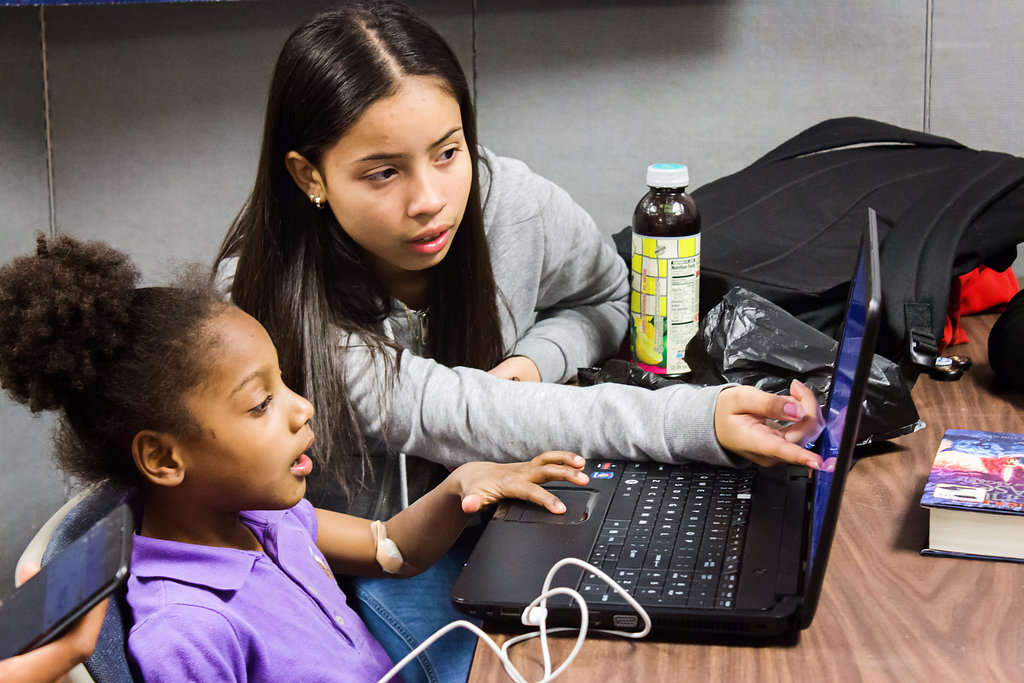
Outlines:
[[882,271],[898,275],[885,284],[883,306],[897,338],[905,339],[904,369],[934,372],[961,242],[989,205],[1022,182],[1024,159],[979,152],[951,172],[945,201],[930,193],[886,237]]

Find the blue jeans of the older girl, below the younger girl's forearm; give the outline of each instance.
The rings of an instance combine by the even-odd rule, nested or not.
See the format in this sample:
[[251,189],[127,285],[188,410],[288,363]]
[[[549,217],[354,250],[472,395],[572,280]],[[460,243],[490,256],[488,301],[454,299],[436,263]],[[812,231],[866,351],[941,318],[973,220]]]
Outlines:
[[[438,629],[470,618],[452,606],[452,586],[479,536],[464,532],[437,562],[412,579],[349,579],[349,604],[366,623],[391,660],[398,663]],[[456,629],[444,634],[410,661],[400,675],[406,683],[465,681],[473,663],[476,634]]]

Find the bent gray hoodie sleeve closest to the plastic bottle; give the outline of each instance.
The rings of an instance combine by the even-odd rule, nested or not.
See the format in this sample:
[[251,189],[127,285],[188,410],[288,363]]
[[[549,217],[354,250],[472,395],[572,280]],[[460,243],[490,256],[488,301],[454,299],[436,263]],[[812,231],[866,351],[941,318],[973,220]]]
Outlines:
[[510,354],[545,382],[612,355],[629,321],[626,263],[568,194],[522,162],[483,152],[484,223]]

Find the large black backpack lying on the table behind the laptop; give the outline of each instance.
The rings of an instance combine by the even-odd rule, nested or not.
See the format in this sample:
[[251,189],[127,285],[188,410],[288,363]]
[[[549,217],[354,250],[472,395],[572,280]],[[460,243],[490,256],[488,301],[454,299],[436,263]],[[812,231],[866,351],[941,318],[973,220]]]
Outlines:
[[952,278],[1024,242],[1024,159],[878,121],[824,121],[692,193],[700,312],[734,286],[838,336],[867,209],[880,217],[879,353],[933,372]]

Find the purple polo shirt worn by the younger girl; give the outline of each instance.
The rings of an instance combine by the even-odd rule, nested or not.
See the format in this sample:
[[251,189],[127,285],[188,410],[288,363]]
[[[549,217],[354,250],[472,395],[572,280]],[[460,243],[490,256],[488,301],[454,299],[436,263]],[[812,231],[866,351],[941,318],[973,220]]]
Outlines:
[[377,681],[391,660],[345,602],[308,501],[242,513],[264,552],[136,536],[128,649],[146,681]]

